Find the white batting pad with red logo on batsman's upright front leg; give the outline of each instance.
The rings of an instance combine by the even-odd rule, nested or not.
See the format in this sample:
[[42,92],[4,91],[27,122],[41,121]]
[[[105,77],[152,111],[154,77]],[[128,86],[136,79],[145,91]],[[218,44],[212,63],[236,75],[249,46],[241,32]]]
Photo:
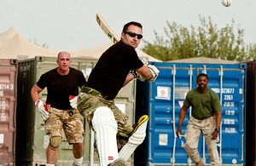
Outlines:
[[118,129],[113,112],[106,106],[100,106],[94,112],[91,123],[96,132],[100,163],[102,166],[106,166],[119,158],[116,140]]

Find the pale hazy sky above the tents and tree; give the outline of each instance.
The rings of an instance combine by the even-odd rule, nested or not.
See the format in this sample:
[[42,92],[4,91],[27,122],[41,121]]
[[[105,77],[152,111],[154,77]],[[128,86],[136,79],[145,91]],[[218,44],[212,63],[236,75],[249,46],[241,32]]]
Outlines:
[[221,0],[0,0],[0,34],[14,27],[48,49],[93,48],[110,42],[96,23],[100,13],[119,36],[125,23],[142,23],[143,39],[153,43],[154,31],[165,36],[166,21],[196,28],[201,15],[210,16],[218,29],[234,19],[234,27],[244,30],[244,41],[249,44],[256,43],[255,7],[255,0],[232,0],[230,7]]

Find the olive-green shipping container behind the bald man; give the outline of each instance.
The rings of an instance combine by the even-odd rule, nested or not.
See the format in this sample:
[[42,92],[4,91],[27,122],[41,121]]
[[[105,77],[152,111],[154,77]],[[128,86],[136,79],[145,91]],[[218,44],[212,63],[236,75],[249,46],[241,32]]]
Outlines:
[[[72,59],[71,67],[84,72],[85,78],[89,77],[92,68],[97,60]],[[44,165],[46,164],[46,147],[49,144],[49,137],[45,134],[44,122],[31,98],[32,86],[39,77],[49,70],[57,67],[56,58],[36,56],[35,59],[20,60],[18,71],[18,108],[17,108],[17,141],[16,141],[16,163],[17,165]],[[134,122],[135,110],[135,82],[129,83],[122,89],[114,100],[122,112]],[[44,89],[39,97],[45,102],[47,89]],[[83,118],[84,119],[84,118]],[[97,153],[94,152],[94,132],[91,132],[88,123],[84,120],[84,161],[83,165],[99,163]],[[63,135],[59,155],[56,164],[58,166],[72,165],[73,146],[67,143]],[[132,164],[133,158],[129,159]]]

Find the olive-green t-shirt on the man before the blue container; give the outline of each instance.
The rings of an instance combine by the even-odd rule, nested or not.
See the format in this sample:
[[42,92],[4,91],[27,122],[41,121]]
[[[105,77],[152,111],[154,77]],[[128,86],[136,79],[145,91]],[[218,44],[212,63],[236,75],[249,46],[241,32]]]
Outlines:
[[197,119],[205,119],[211,117],[215,112],[221,111],[218,94],[212,89],[207,89],[207,92],[201,94],[197,89],[192,89],[186,95],[183,106],[189,108],[192,106],[192,117]]

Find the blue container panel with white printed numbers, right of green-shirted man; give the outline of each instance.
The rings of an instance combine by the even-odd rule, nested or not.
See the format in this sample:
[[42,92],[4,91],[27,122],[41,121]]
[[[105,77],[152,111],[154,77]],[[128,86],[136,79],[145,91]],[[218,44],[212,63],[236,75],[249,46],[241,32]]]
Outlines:
[[[237,71],[224,72],[222,94],[222,159],[223,163],[244,163],[244,149],[242,144],[244,129],[242,77]],[[236,146],[234,146],[236,145]]]

